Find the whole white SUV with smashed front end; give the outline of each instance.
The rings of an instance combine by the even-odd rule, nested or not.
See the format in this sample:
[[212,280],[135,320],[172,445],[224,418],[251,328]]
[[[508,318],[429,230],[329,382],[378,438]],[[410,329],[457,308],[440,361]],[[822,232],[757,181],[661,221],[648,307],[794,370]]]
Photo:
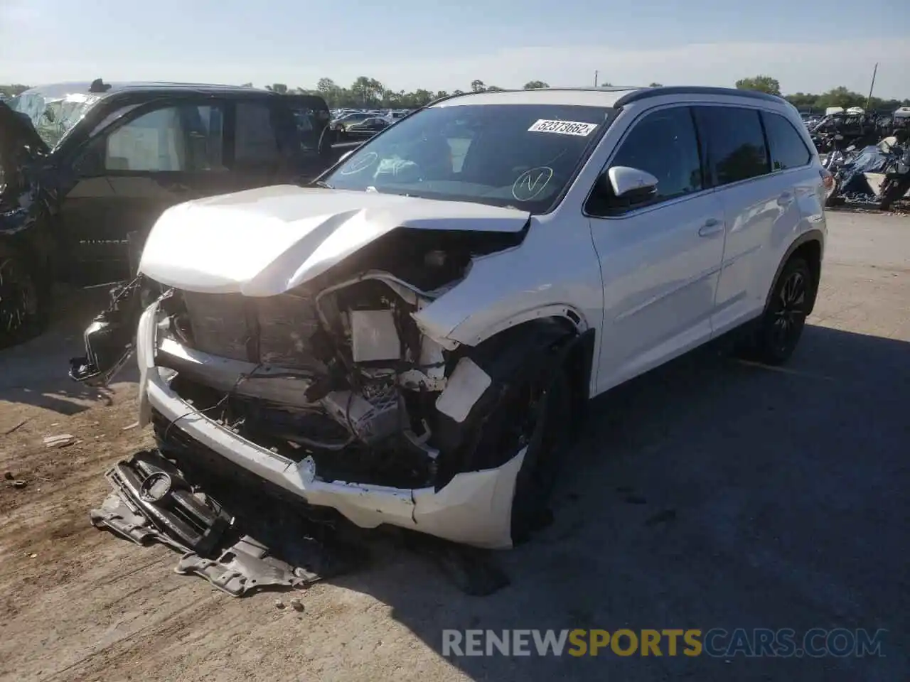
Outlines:
[[791,355],[828,181],[771,95],[440,100],[319,187],[161,216],[140,264],[167,290],[138,326],[140,418],[178,465],[360,527],[510,547],[590,397],[734,328],[764,362]]

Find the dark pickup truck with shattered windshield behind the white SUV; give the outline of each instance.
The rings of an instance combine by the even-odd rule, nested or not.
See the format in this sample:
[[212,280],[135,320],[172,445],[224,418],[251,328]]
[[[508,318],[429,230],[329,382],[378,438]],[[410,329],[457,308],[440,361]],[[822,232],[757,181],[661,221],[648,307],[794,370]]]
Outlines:
[[0,347],[40,331],[51,283],[129,276],[168,206],[315,179],[339,144],[319,96],[67,83],[0,102]]

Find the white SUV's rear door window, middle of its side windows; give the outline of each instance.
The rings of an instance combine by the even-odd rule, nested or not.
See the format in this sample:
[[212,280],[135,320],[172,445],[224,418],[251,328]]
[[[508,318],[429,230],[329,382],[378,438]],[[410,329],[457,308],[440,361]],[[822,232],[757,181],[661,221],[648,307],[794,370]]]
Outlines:
[[695,120],[715,185],[730,185],[770,172],[757,109],[699,106]]

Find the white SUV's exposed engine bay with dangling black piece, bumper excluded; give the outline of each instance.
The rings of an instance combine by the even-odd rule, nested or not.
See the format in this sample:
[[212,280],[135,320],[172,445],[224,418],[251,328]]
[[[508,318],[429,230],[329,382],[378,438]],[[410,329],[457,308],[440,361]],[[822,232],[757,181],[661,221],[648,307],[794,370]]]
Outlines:
[[[70,376],[109,381],[128,356],[113,348],[133,350],[136,311],[154,301],[155,366],[189,406],[177,418],[152,410],[159,443],[199,414],[321,481],[439,489],[460,471],[441,432],[491,380],[469,346],[443,346],[413,315],[457,286],[473,257],[522,237],[401,229],[278,296],[203,294],[140,275],[86,330],[88,355]],[[387,267],[364,267],[377,263]]]

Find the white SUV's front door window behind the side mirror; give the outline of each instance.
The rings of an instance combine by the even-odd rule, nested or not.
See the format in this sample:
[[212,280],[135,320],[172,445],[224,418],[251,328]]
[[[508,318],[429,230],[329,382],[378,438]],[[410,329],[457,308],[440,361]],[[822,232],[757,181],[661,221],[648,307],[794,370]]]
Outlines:
[[645,115],[622,140],[610,165],[638,168],[656,177],[655,201],[701,190],[698,138],[689,108],[678,106]]

